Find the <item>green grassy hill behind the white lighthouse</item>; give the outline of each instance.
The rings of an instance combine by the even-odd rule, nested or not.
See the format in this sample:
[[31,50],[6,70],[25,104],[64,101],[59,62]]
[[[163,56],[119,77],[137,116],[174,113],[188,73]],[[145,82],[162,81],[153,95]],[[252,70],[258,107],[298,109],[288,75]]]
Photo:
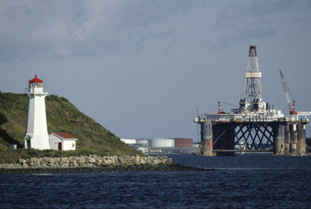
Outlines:
[[[10,152],[32,155],[136,155],[139,154],[120,141],[113,133],[87,115],[81,113],[66,98],[49,95],[45,98],[48,133],[67,132],[77,137],[76,151],[49,150],[42,152],[34,149],[9,150],[10,144],[24,145],[26,131],[28,99],[25,94],[0,92],[0,113],[5,115],[7,122],[0,126],[0,163]],[[45,154],[44,154],[45,153]],[[141,155],[141,154],[140,154]],[[14,155],[15,156],[15,155]],[[35,157],[35,156],[34,156]]]

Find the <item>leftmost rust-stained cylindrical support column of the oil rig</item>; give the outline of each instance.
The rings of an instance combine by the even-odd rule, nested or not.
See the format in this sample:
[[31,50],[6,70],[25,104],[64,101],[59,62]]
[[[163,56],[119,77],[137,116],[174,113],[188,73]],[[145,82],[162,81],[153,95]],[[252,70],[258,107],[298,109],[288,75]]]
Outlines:
[[201,123],[201,141],[204,156],[213,156],[213,134],[211,120]]

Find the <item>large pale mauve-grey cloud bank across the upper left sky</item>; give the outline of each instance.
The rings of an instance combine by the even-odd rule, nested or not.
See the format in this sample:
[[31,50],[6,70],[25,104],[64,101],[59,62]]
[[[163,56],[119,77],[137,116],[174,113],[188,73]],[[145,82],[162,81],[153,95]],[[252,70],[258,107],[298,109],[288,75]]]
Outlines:
[[153,35],[166,33],[147,26],[187,12],[192,5],[189,1],[2,2],[0,59],[132,52]]

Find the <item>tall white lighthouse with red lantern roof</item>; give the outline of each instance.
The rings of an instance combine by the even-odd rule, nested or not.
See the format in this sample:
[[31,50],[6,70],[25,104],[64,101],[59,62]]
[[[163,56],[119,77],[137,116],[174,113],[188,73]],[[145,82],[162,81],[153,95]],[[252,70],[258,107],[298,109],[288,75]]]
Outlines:
[[35,75],[30,80],[26,95],[28,96],[28,111],[24,147],[39,150],[50,149],[49,134],[46,125],[45,101],[48,93],[43,89],[43,81]]

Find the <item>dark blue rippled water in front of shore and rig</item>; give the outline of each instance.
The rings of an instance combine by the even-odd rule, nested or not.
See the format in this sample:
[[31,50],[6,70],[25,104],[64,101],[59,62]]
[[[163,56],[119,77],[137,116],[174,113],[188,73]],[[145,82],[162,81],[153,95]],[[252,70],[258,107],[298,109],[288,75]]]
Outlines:
[[217,171],[0,175],[0,207],[311,207],[311,156],[168,156]]

